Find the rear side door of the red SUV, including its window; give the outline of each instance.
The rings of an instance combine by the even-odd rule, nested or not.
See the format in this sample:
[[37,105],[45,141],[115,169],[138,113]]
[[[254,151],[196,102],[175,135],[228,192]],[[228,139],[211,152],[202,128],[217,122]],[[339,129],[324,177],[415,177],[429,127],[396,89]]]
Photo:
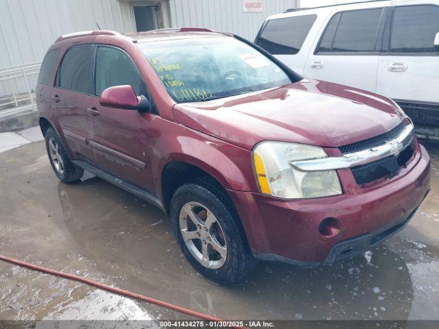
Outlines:
[[54,116],[73,158],[93,162],[93,151],[86,143],[90,138],[86,108],[93,99],[92,46],[69,48],[56,73],[51,101]]

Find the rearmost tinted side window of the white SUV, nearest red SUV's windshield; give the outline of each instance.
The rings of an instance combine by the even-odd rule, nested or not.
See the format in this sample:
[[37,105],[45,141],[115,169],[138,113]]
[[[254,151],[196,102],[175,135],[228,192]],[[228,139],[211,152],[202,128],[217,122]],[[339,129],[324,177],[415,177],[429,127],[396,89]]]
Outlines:
[[302,47],[317,15],[272,19],[263,29],[257,45],[273,54],[294,54]]

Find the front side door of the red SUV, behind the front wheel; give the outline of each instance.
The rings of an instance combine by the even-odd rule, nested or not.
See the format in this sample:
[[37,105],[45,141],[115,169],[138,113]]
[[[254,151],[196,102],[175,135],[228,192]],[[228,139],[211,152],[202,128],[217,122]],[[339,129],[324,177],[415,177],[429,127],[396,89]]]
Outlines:
[[137,110],[110,108],[99,103],[111,86],[130,85],[136,95],[147,95],[137,66],[117,48],[98,45],[95,51],[95,95],[87,108],[91,147],[100,169],[117,178],[154,191],[147,154],[147,115]]

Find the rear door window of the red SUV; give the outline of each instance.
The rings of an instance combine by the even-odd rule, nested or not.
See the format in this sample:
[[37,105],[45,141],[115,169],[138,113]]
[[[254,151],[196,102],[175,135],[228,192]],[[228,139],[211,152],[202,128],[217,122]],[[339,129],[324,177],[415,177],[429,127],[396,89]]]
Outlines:
[[71,47],[65,53],[56,75],[56,86],[91,93],[93,77],[89,67],[91,46]]

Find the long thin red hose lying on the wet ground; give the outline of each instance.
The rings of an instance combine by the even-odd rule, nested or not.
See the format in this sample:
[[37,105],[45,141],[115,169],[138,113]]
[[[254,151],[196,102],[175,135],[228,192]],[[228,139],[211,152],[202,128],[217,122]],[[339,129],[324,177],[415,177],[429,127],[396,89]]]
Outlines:
[[[181,306],[177,306],[177,305],[174,305],[174,304],[163,302],[163,300],[156,300],[156,299],[151,298],[151,297],[140,295],[139,293],[132,293],[131,291],[127,291],[127,290],[111,287],[111,286],[108,286],[106,284],[94,281],[94,280],[82,278],[80,276],[74,276],[73,274],[64,273],[64,272],[61,272],[61,271],[56,271],[54,269],[48,269],[47,267],[43,267],[43,266],[38,266],[38,265],[22,262],[21,260],[16,260],[14,258],[6,257],[6,256],[3,256],[3,255],[0,255],[0,259],[1,260],[5,260],[8,263],[13,263],[13,264],[16,264],[16,265],[27,267],[28,269],[34,269],[36,271],[53,274],[55,276],[60,276],[62,278],[67,278],[67,279],[70,279],[70,280],[75,280],[75,281],[78,281],[78,282],[82,282],[82,283],[88,284],[90,286],[97,287],[99,289],[110,291],[112,293],[118,293],[119,295],[124,295],[124,296],[128,296],[128,297],[136,298],[137,300],[143,300],[143,301],[148,302],[148,303],[160,305],[160,306],[163,306],[165,308],[169,308],[171,310],[176,310],[177,312],[180,312],[180,313],[191,315],[192,317],[198,317],[199,319],[204,319],[204,320],[207,320],[207,321],[223,321],[222,319],[218,319],[217,317],[211,317],[210,315],[206,315],[204,313],[200,313],[200,312],[197,312],[195,310],[189,310],[188,308],[184,308],[184,307],[181,307]],[[233,328],[239,328],[239,327],[233,327]]]

